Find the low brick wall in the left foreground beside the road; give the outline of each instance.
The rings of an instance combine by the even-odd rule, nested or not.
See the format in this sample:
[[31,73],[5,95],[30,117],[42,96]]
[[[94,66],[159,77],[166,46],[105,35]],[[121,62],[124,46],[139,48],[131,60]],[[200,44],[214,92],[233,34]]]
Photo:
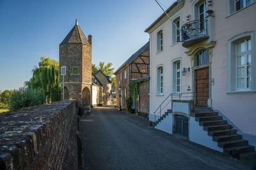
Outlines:
[[75,101],[3,113],[0,169],[77,169],[77,139]]

